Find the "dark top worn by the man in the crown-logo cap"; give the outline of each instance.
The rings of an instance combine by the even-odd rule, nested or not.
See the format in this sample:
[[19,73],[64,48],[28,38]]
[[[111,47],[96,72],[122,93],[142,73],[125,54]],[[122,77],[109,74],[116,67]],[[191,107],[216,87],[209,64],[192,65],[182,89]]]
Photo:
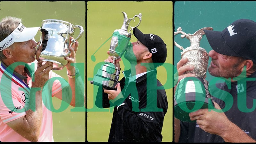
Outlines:
[[[256,140],[256,72],[236,82],[211,86],[213,100],[220,105],[228,119]],[[213,80],[214,81],[214,80]],[[228,84],[228,85],[227,85]],[[246,103],[246,104],[245,104]],[[221,123],[221,122],[220,122]],[[196,123],[180,123],[181,143],[225,142],[220,136],[204,132]]]

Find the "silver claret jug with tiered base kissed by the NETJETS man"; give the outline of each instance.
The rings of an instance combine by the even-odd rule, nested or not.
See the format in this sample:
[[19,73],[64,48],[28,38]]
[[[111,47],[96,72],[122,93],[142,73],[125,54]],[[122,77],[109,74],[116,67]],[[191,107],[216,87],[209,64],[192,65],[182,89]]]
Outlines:
[[[122,13],[124,15],[123,25],[121,29],[116,29],[114,31],[110,43],[109,55],[112,57],[113,62],[101,65],[101,68],[98,70],[97,74],[94,75],[93,80],[90,81],[91,84],[98,86],[102,85],[102,87],[109,90],[116,89],[115,86],[119,79],[120,70],[118,70],[115,61],[122,57],[127,48],[131,48],[131,46],[128,45],[132,35],[130,32],[134,28],[138,27],[141,22],[141,13],[133,16],[131,19],[127,18],[127,14],[125,12]],[[137,26],[131,27],[128,32],[129,23],[131,20],[135,21],[135,17],[138,17],[140,21]]]

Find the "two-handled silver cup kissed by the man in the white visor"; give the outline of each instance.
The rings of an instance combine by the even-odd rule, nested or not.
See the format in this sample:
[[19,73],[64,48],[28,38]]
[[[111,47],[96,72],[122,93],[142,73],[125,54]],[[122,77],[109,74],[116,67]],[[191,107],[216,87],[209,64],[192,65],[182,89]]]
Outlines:
[[42,21],[40,55],[36,55],[39,65],[45,62],[53,63],[53,70],[61,70],[68,63],[64,57],[70,55],[69,37],[74,36],[75,29],[79,28],[79,34],[75,39],[71,40],[71,44],[75,43],[84,33],[82,26],[73,25],[67,21],[48,19]]

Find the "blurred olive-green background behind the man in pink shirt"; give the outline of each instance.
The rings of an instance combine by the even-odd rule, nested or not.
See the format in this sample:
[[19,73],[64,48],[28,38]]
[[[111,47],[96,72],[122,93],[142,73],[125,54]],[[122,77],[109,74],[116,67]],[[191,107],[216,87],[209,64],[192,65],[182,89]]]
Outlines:
[[[25,1],[1,1],[0,18],[13,16],[22,19],[26,27],[41,27],[41,21],[45,19],[64,20],[73,25],[80,25],[85,31],[85,6],[81,1],[57,1],[57,2],[25,2]],[[79,31],[79,29],[77,29]],[[74,37],[78,32],[75,30]],[[39,41],[41,32],[38,31],[35,40]],[[85,67],[85,33],[79,39],[79,47],[76,53],[76,62],[83,63]],[[54,70],[57,74],[68,80],[66,68]],[[61,101],[53,98],[55,109],[59,109]],[[56,142],[83,142],[85,141],[85,112],[71,112],[68,107],[62,112],[52,113],[53,138]]]

